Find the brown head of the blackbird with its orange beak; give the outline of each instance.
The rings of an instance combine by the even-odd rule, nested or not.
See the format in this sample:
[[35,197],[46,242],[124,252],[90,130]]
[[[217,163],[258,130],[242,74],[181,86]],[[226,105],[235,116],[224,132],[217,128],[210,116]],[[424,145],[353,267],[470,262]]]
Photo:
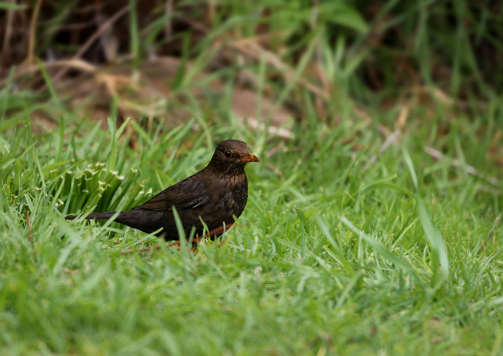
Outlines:
[[210,164],[222,172],[244,171],[247,162],[259,162],[255,154],[250,153],[248,145],[243,141],[226,140],[217,145]]

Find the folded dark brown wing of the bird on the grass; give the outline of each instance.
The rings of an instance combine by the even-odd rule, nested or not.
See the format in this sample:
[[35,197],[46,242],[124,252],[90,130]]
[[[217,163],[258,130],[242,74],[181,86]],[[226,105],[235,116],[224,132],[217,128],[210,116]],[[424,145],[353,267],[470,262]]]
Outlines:
[[206,185],[203,182],[189,178],[163,190],[155,197],[133,209],[171,210],[175,206],[178,210],[195,208],[204,204],[208,201]]

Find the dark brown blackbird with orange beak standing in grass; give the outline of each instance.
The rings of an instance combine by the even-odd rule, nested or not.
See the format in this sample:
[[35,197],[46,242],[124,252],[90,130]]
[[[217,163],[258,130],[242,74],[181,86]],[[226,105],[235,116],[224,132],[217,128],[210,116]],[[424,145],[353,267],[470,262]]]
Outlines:
[[[227,140],[220,142],[210,163],[199,172],[163,190],[145,203],[121,211],[114,221],[135,229],[152,233],[166,240],[178,240],[178,230],[173,216],[175,207],[188,236],[192,227],[200,236],[203,224],[208,230],[234,223],[241,215],[248,198],[248,179],[244,173],[247,162],[259,162],[245,142]],[[108,220],[116,212],[89,214],[85,219]],[[76,216],[67,216],[72,220]],[[201,219],[200,219],[201,217]]]

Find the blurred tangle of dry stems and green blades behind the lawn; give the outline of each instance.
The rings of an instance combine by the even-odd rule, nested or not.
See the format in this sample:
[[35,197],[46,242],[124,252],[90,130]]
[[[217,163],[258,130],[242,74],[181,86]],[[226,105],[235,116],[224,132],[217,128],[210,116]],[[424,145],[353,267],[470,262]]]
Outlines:
[[[178,122],[222,115],[215,99],[226,97],[238,116],[260,121],[281,110],[285,119],[337,122],[348,100],[361,120],[386,110],[379,121],[387,124],[400,115],[445,122],[487,112],[484,123],[503,115],[499,1],[20,0],[0,8],[0,84],[13,101],[3,115],[57,118],[71,108],[106,118],[115,98],[117,116]],[[59,107],[43,105],[56,95]]]

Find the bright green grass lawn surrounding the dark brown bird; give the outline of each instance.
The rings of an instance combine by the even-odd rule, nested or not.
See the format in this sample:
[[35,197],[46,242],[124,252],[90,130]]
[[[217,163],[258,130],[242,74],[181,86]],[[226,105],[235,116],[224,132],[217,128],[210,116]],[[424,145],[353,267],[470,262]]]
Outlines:
[[[109,123],[0,123],[2,354],[503,352],[501,224],[477,254],[501,188],[427,155],[438,146],[426,129],[380,152],[385,138],[350,121],[298,124],[276,151],[274,138],[226,128],[235,122],[161,132],[130,120],[122,135]],[[470,135],[444,137],[446,154],[501,177],[472,158],[485,146],[467,147]],[[246,167],[248,204],[220,247],[121,254],[158,241],[63,219],[141,203],[228,138],[262,161]]]

